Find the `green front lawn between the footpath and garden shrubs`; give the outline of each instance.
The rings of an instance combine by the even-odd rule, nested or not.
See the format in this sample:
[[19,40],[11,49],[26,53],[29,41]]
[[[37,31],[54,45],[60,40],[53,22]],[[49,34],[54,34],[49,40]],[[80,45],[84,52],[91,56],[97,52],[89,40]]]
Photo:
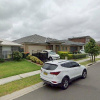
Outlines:
[[22,61],[8,61],[0,63],[0,78],[5,78],[40,69],[41,66],[28,62],[25,59]]

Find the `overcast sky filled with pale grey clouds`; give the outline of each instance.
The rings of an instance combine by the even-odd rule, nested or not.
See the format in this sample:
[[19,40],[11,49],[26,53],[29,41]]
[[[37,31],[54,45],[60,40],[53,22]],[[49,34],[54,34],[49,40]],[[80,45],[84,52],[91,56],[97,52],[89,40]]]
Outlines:
[[100,0],[0,0],[0,38],[34,34],[100,41]]

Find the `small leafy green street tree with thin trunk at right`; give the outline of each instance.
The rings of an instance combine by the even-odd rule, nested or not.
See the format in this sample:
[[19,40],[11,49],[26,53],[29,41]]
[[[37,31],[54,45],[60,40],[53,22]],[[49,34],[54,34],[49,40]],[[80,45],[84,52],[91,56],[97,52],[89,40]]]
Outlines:
[[93,62],[95,61],[95,56],[100,52],[100,47],[96,44],[94,39],[90,39],[90,41],[85,45],[85,52],[91,54]]

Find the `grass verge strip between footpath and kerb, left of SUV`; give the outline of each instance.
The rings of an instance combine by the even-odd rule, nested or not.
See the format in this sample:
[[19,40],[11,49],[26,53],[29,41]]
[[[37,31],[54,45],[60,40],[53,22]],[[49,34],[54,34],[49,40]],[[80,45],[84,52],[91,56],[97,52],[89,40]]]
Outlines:
[[40,75],[34,75],[31,77],[23,78],[14,82],[7,83],[5,85],[0,85],[0,96],[10,94],[17,90],[23,89],[25,87],[34,85],[41,82]]

